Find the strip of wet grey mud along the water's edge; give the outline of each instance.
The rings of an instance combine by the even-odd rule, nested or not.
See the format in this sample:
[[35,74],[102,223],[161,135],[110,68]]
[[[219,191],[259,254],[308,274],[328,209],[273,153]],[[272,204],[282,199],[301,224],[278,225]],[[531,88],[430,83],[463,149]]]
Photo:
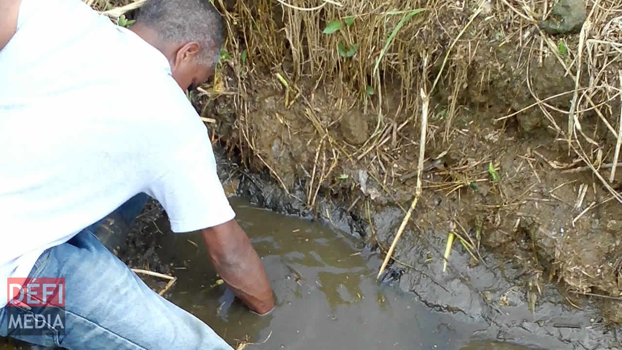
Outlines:
[[[221,168],[230,166],[227,161],[220,164]],[[304,201],[295,198],[304,197],[303,187],[288,195],[267,172],[250,174],[234,165],[225,173],[229,174],[223,174],[225,180],[231,173],[239,175],[225,182],[229,191],[235,189],[277,212],[318,218],[362,239],[372,252],[382,256],[379,242],[392,237],[403,215],[397,206],[375,207],[378,212],[369,211],[372,228],[368,219],[346,210],[345,203],[337,199],[319,198],[317,211],[312,212]],[[435,215],[434,211],[429,215]],[[474,264],[462,247],[454,247],[448,270],[443,273],[439,250],[445,247],[446,236],[432,229],[425,232],[425,237],[408,232],[396,255],[399,262],[392,262],[388,276],[432,310],[486,324],[474,333],[476,338],[542,349],[618,348],[619,328],[607,323],[599,310],[600,300],[573,296],[569,301],[555,283],[540,281],[536,285],[537,280],[516,256],[488,250],[482,250],[480,263]]]

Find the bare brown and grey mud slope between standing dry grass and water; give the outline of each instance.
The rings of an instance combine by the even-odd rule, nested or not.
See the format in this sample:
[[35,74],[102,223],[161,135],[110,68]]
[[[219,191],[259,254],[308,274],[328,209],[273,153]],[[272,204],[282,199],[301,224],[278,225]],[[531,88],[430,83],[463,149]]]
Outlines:
[[[402,288],[431,307],[581,344],[583,337],[609,334],[606,324],[622,319],[622,206],[611,192],[620,191],[620,173],[605,186],[590,166],[602,166],[605,174],[610,148],[588,151],[583,141],[567,142],[568,92],[576,82],[558,57],[527,55],[488,24],[473,21],[472,32],[490,40],[457,44],[468,60],[455,60],[460,69],[430,95],[422,197],[394,254],[401,263],[392,266],[409,271]],[[440,60],[434,62],[431,77],[440,69]],[[244,93],[205,101],[203,115],[216,119],[210,125],[216,138],[230,155],[241,155],[244,169],[272,181],[247,184],[246,194],[386,250],[412,201],[421,146],[420,110],[405,113],[397,88],[404,77],[383,83],[380,107],[343,93],[347,82],[339,79],[315,85],[300,79],[304,98],[292,103],[261,64],[244,75],[230,62],[223,77],[232,91],[244,87]],[[587,80],[584,75],[578,83]],[[534,105],[542,98],[546,108]],[[618,111],[615,103],[608,108]],[[597,112],[582,114],[582,132],[609,147],[611,134],[602,132]],[[590,166],[577,149],[594,157]],[[468,252],[455,242],[443,273],[450,232],[475,248]],[[507,318],[504,310],[524,315]],[[565,323],[571,318],[581,321]],[[582,341],[587,348],[608,346]]]

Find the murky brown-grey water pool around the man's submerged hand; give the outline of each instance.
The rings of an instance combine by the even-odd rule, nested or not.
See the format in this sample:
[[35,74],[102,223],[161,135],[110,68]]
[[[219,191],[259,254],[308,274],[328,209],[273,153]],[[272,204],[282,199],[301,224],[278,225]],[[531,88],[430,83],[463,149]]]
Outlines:
[[[312,222],[232,199],[238,220],[263,257],[277,297],[270,315],[250,313],[234,300],[207,262],[198,234],[175,235],[160,220],[157,245],[177,284],[168,297],[247,349],[498,349],[511,344],[471,342],[486,324],[429,310],[390,282],[377,283],[376,253]],[[0,344],[2,340],[0,339]],[[0,345],[0,350],[15,345]],[[28,346],[22,346],[28,349]]]

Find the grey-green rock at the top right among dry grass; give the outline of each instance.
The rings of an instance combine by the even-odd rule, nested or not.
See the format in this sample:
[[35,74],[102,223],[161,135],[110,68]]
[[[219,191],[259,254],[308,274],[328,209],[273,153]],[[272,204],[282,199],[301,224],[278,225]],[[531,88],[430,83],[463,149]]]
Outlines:
[[560,0],[553,7],[553,15],[540,24],[542,31],[552,35],[576,33],[587,17],[585,1]]

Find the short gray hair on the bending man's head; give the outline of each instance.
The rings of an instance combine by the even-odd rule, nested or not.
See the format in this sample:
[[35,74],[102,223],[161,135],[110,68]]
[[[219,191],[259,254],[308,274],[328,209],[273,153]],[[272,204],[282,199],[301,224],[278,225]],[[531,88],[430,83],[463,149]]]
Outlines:
[[147,0],[136,22],[154,29],[168,42],[196,41],[200,64],[218,62],[223,44],[223,20],[209,0]]

